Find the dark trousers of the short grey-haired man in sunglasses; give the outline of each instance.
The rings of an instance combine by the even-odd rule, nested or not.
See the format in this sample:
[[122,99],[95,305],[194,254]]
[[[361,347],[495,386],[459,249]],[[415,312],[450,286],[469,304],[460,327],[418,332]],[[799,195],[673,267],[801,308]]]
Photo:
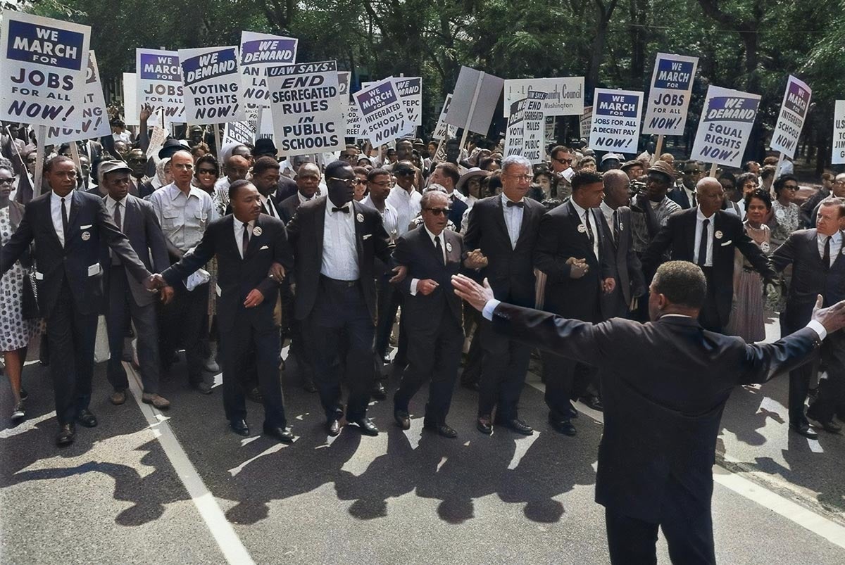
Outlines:
[[419,329],[415,325],[406,326],[408,365],[393,397],[394,409],[407,412],[413,395],[429,381],[425,420],[441,425],[446,422],[452,403],[464,334],[461,324],[448,311],[441,312],[437,326]]

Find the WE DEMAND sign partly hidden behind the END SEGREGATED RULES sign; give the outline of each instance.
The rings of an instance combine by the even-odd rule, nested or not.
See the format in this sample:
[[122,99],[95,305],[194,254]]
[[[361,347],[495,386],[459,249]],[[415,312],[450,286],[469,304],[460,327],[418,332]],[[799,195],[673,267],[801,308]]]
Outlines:
[[299,40],[293,37],[241,32],[241,102],[267,106],[270,90],[264,69],[297,61]]

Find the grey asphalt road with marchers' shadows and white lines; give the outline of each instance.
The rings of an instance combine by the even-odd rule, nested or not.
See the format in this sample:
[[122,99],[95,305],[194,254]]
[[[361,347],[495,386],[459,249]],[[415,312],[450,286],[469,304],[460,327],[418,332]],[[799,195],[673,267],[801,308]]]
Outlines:
[[[29,418],[8,426],[0,384],[0,563],[605,563],[603,508],[593,503],[601,416],[579,405],[577,437],[546,423],[535,375],[521,399],[532,437],[474,428],[475,396],[458,388],[447,440],[370,414],[327,438],[316,395],[283,374],[297,442],[227,431],[221,390],[187,387],[183,365],[162,386],[165,414],[108,402],[97,367],[94,429],[59,450],[46,367],[25,368]],[[391,382],[394,384],[395,382]],[[713,514],[722,563],[845,562],[845,436],[788,433],[787,380],[738,388],[718,444]],[[139,394],[139,391],[135,390]],[[3,429],[6,428],[6,429]],[[669,562],[663,542],[660,562]]]

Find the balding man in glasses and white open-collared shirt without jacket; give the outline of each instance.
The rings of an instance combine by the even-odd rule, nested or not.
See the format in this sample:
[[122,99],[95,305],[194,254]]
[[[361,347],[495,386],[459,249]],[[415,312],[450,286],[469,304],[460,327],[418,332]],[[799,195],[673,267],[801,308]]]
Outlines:
[[[237,159],[243,160],[243,157]],[[150,204],[164,231],[171,262],[176,263],[202,240],[209,222],[217,218],[217,211],[209,194],[191,184],[194,157],[187,150],[179,150],[170,162],[173,182],[152,193]],[[203,377],[205,361],[202,355],[204,322],[208,315],[208,281],[192,291],[188,291],[182,281],[174,290],[173,301],[161,308],[162,365],[169,367],[177,343],[181,341],[188,361],[188,383],[199,393],[210,394],[211,385]]]

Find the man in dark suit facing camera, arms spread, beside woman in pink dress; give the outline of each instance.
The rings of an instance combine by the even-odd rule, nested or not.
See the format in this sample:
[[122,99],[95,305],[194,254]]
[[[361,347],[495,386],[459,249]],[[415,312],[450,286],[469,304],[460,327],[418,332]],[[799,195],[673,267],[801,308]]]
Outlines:
[[707,299],[699,321],[705,329],[722,332],[728,324],[733,302],[733,250],[739,249],[763,280],[777,274],[755,242],[745,233],[742,220],[722,210],[724,189],[713,177],[695,187],[698,206],[669,216],[643,256],[643,270],[653,272],[664,251],[675,261],[701,266],[707,278]]

